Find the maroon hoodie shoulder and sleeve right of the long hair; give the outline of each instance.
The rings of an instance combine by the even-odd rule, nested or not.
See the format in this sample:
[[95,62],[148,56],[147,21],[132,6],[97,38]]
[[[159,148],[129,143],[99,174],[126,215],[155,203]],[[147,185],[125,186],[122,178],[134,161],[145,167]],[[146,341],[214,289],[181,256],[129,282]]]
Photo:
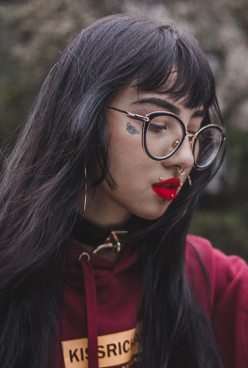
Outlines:
[[212,321],[224,366],[248,367],[248,265],[198,236],[186,238],[186,274]]

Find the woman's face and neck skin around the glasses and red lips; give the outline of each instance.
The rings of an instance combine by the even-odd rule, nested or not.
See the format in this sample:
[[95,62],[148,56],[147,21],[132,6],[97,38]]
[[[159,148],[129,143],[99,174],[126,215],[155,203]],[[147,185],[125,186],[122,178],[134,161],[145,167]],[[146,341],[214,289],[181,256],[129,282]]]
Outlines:
[[[187,109],[181,101],[174,101],[165,93],[137,91],[132,85],[121,90],[109,106],[145,116],[153,111],[169,111],[177,114],[186,130],[196,132],[203,119],[201,108]],[[163,215],[180,190],[170,192],[165,201],[157,194],[155,183],[179,178],[183,184],[193,165],[193,155],[186,137],[175,154],[164,161],[154,161],[143,151],[141,144],[142,121],[130,119],[124,113],[107,108],[107,122],[110,134],[110,173],[117,187],[112,190],[106,180],[100,183],[94,193],[87,193],[85,217],[105,228],[117,228],[128,221],[131,214],[154,220]],[[177,168],[185,169],[179,176]],[[161,181],[161,182],[162,182]],[[175,181],[177,183],[177,180]],[[168,186],[168,183],[165,183]],[[154,190],[155,189],[155,190]],[[167,189],[166,189],[167,190]],[[162,189],[163,191],[163,189]],[[170,196],[170,193],[173,193]]]

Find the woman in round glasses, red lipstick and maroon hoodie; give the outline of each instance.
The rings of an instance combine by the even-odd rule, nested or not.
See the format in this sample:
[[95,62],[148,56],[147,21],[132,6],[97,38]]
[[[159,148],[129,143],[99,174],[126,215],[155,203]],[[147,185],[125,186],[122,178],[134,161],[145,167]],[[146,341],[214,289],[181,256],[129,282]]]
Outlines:
[[186,237],[224,150],[191,37],[124,14],[83,30],[4,165],[1,367],[246,367],[248,268]]

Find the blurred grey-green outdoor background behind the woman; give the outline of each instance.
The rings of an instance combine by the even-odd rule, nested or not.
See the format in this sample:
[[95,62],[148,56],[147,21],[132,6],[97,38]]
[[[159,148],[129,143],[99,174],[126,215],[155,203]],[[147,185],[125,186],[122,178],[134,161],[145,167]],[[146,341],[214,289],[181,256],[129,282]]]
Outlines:
[[81,28],[118,12],[173,20],[205,51],[228,146],[190,232],[248,260],[247,0],[0,0],[0,146],[14,142],[60,50]]

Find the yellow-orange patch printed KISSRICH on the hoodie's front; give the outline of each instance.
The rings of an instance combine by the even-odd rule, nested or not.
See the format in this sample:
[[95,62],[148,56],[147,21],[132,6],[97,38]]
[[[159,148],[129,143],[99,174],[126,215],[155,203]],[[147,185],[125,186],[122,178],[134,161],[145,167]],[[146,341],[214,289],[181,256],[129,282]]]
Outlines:
[[[131,330],[98,336],[99,368],[120,366],[138,353],[139,324]],[[62,341],[65,368],[88,368],[88,339]]]

